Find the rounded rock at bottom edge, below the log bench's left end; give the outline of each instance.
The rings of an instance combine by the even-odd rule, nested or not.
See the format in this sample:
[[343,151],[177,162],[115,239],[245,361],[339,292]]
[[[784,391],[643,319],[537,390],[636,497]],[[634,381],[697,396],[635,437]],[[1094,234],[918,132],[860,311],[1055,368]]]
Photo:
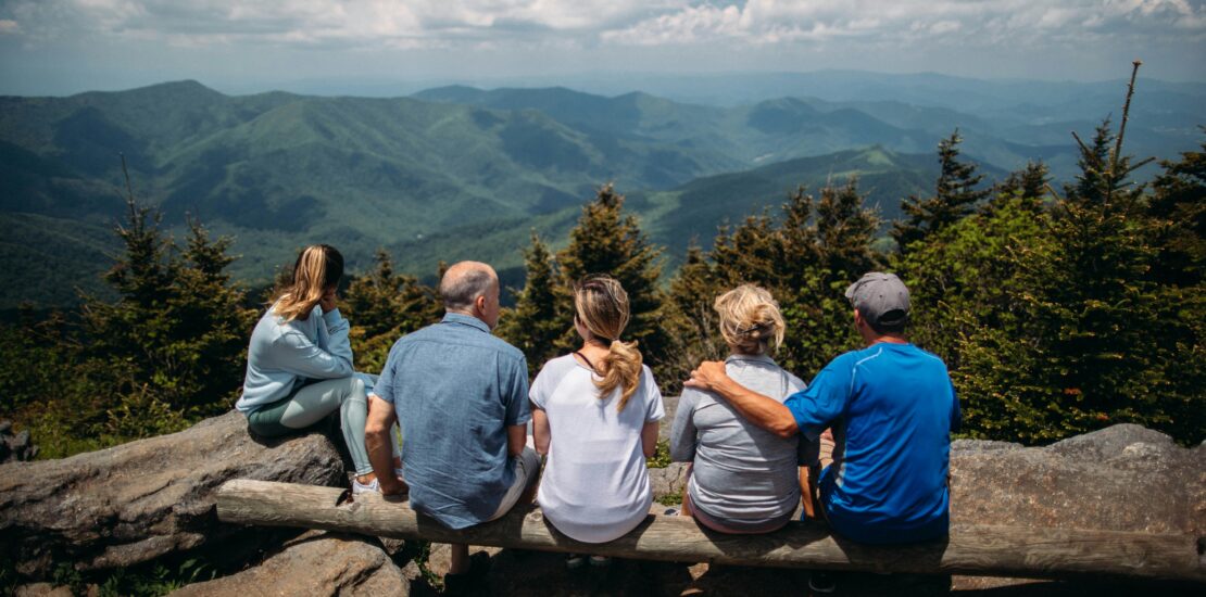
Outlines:
[[410,583],[371,538],[306,533],[253,568],[172,592],[176,597],[248,595],[399,596]]

